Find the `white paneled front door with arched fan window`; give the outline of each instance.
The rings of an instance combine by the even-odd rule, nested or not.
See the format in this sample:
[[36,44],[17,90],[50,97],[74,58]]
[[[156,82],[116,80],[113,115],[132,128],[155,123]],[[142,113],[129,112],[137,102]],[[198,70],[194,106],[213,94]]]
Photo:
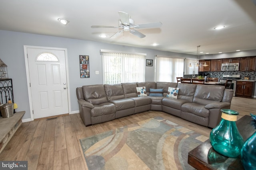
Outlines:
[[26,52],[34,119],[69,113],[65,49],[26,47]]

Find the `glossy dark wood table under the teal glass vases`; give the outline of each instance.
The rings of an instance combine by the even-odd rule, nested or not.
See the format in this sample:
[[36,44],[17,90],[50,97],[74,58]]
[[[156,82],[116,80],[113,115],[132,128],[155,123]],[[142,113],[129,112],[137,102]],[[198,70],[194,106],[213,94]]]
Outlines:
[[[256,131],[256,121],[249,115],[241,117],[236,121],[238,131],[244,138],[248,139]],[[208,139],[195,149],[188,152],[188,164],[197,170],[243,170],[240,156],[238,158],[228,158],[218,154]]]

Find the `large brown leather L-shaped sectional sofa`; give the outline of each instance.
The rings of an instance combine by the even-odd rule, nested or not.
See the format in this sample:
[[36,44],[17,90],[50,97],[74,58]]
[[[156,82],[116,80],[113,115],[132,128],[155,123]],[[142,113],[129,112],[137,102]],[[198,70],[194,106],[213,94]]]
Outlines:
[[[136,87],[146,87],[147,96],[138,97]],[[169,87],[179,88],[177,98],[166,97]],[[149,96],[152,89],[162,89],[163,96]],[[220,109],[230,109],[233,90],[214,85],[137,82],[82,86],[76,88],[76,95],[86,126],[158,110],[214,128],[221,119]]]

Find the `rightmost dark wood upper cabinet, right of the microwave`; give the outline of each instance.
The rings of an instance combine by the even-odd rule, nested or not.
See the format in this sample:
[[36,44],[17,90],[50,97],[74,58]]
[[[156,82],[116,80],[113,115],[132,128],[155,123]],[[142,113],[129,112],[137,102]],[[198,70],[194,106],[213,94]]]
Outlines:
[[256,70],[256,56],[240,58],[240,71],[255,71],[255,70]]

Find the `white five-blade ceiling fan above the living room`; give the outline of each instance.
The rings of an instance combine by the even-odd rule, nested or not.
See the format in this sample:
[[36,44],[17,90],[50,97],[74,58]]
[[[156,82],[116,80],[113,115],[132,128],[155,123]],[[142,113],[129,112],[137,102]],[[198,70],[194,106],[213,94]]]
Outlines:
[[116,32],[110,38],[115,38],[124,31],[130,31],[133,35],[136,35],[139,38],[144,38],[146,35],[135,30],[139,28],[159,28],[162,26],[161,22],[152,22],[152,23],[141,23],[134,24],[134,20],[130,18],[130,15],[125,12],[118,12],[120,20],[118,21],[118,26],[102,26],[102,25],[92,25],[91,28],[122,28],[122,30]]

